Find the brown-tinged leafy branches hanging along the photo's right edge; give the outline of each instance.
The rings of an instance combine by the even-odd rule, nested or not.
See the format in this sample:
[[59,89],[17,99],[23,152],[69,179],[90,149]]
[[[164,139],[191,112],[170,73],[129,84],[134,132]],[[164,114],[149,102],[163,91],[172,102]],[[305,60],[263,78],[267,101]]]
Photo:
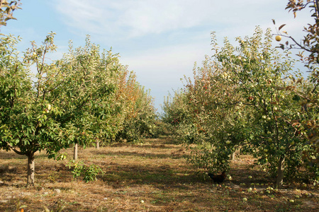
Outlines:
[[[287,119],[287,122],[291,124],[296,130],[303,133],[303,137],[306,139],[306,143],[310,146],[307,150],[303,151],[303,158],[310,160],[309,165],[313,167],[313,163],[319,161],[319,136],[318,136],[318,53],[319,53],[319,2],[316,0],[289,0],[286,9],[293,12],[294,17],[297,17],[297,12],[303,9],[310,8],[312,11],[312,17],[314,23],[308,23],[304,27],[306,35],[301,42],[297,42],[291,35],[285,30],[283,24],[277,30],[277,34],[286,37],[285,43],[281,43],[279,47],[281,49],[298,49],[298,57],[304,63],[305,68],[308,69],[309,82],[303,90],[298,90],[298,86],[292,85],[286,87],[286,90],[290,90],[291,95],[296,95],[296,99],[300,100],[300,104],[303,107],[301,110],[301,116],[296,119]],[[274,24],[275,21],[274,21]],[[293,78],[295,84],[301,83],[302,78]]]

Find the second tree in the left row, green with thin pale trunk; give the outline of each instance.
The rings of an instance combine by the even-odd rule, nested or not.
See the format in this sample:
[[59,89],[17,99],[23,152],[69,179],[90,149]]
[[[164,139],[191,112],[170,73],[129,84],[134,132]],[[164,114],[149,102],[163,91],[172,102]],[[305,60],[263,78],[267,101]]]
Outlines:
[[[69,111],[68,116],[64,117],[64,127],[73,129],[76,160],[78,145],[85,147],[88,139],[108,139],[118,131],[118,125],[113,122],[113,93],[116,91],[118,75],[125,71],[125,66],[119,63],[118,54],[113,54],[111,50],[100,54],[99,46],[92,44],[89,37],[84,47],[74,49],[71,42],[69,52],[59,63],[61,69],[67,67],[67,70],[71,70],[65,73],[69,85],[59,86],[56,93],[67,91],[61,104],[65,104],[63,107]],[[68,105],[69,102],[73,105]]]

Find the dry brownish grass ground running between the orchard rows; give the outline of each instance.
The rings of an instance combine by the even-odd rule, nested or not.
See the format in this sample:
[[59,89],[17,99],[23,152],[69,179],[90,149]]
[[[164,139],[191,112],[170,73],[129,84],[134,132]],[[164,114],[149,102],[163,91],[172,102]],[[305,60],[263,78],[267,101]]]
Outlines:
[[[71,148],[64,152],[72,158]],[[26,158],[0,151],[0,211],[15,211],[17,204],[26,205],[24,211],[44,211],[43,206],[52,211],[318,211],[318,187],[267,189],[274,179],[252,169],[250,157],[236,158],[227,173],[232,180],[216,186],[186,163],[185,153],[169,139],[79,149],[79,160],[105,171],[89,183],[72,178],[67,160],[38,153],[35,187],[26,188]]]

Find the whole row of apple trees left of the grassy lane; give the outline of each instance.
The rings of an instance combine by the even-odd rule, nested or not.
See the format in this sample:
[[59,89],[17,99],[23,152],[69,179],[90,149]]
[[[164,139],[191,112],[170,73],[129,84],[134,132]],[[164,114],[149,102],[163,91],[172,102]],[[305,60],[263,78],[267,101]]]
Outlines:
[[[55,158],[70,145],[154,136],[150,93],[123,66],[118,54],[100,51],[86,38],[61,59],[50,61],[54,33],[21,57],[11,35],[0,37],[0,148],[28,157],[28,184],[34,183],[34,155]],[[60,155],[59,155],[60,156]]]

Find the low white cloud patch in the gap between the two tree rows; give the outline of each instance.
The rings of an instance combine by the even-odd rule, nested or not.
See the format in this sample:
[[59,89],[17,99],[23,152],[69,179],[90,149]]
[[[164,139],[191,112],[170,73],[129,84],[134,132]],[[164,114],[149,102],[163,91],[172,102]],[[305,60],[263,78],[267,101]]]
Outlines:
[[210,49],[209,43],[193,42],[122,54],[121,61],[128,64],[130,69],[136,71],[138,77],[145,81],[152,76],[157,79],[167,76],[181,78],[185,73],[192,73],[194,62],[201,63],[205,54],[210,53]]

